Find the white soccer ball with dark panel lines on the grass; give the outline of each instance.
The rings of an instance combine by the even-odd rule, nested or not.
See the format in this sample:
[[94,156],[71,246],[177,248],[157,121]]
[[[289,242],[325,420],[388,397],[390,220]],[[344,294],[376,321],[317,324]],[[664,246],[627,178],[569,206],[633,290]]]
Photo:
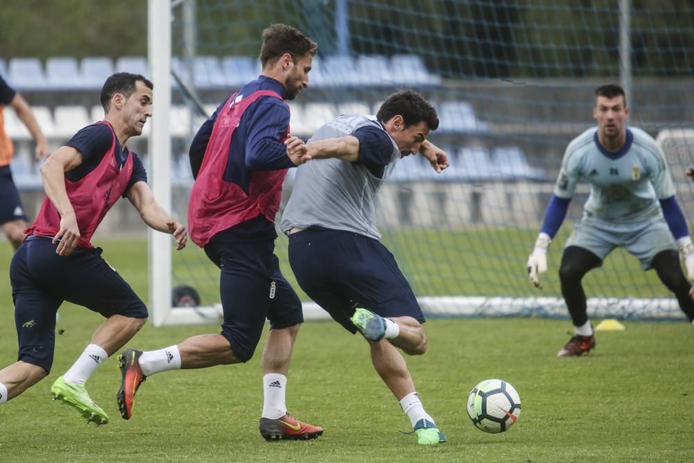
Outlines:
[[468,416],[477,429],[504,432],[521,416],[521,397],[504,380],[484,380],[468,396]]

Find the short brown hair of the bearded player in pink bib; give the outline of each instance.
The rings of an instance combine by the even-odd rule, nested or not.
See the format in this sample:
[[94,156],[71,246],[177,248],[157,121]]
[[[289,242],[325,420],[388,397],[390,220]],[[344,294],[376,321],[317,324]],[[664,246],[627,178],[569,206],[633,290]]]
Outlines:
[[262,47],[260,48],[260,64],[274,65],[285,53],[291,55],[294,64],[307,54],[316,56],[318,44],[287,24],[272,24],[262,31]]

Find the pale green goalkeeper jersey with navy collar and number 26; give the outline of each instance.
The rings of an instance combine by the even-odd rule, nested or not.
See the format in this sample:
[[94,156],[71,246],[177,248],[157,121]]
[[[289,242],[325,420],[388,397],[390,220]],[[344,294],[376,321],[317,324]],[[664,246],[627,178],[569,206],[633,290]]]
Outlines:
[[675,196],[663,152],[653,138],[638,128],[627,128],[626,142],[616,153],[598,142],[590,128],[566,148],[555,196],[571,199],[579,180],[590,184],[584,217],[629,224],[662,216],[659,199]]

